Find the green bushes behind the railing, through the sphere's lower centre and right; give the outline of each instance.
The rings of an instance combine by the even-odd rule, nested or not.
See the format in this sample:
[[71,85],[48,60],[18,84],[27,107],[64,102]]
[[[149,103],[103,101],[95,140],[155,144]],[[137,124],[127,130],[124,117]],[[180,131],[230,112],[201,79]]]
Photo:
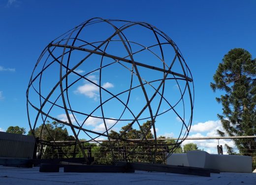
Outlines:
[[[144,142],[127,142],[118,141],[113,146],[116,150],[114,151],[114,157],[116,160],[125,161],[136,161],[136,162],[158,162],[163,163],[166,152],[182,153],[182,148],[179,143],[176,143],[173,139],[165,139],[164,136],[160,136],[162,140],[157,141],[157,145],[154,141],[154,135],[151,132],[151,121],[147,121],[140,125],[140,129],[132,128],[129,123],[123,126],[120,132],[110,131],[109,136],[112,139],[139,139]],[[126,131],[126,132],[125,132]],[[147,140],[145,140],[145,138]],[[149,140],[148,140],[149,139]],[[99,149],[95,148],[94,151],[97,154],[104,154],[97,162],[101,164],[111,164],[112,154],[110,150],[107,150],[109,142],[103,142]],[[174,150],[173,150],[174,149]],[[117,152],[119,150],[119,152]],[[172,151],[173,150],[173,151]],[[96,154],[96,152],[94,152]],[[156,155],[156,157],[155,157]],[[99,156],[99,155],[98,155]]]

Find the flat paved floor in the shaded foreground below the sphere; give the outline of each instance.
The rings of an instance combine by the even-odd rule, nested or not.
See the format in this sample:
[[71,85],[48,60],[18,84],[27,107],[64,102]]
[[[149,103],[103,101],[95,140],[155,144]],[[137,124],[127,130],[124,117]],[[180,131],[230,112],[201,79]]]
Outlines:
[[0,166],[0,185],[256,185],[256,173],[211,173],[200,177],[162,172],[135,173],[39,172],[39,167]]

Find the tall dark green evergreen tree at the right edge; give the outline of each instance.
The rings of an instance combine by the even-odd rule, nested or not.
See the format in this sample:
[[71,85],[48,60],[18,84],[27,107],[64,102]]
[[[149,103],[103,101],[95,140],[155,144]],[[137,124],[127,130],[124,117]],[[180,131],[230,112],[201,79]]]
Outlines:
[[[221,136],[256,135],[256,59],[242,48],[230,50],[219,64],[210,86],[215,92],[224,92],[216,100],[222,103],[223,113],[218,114],[224,131]],[[239,152],[256,154],[256,139],[234,139]]]

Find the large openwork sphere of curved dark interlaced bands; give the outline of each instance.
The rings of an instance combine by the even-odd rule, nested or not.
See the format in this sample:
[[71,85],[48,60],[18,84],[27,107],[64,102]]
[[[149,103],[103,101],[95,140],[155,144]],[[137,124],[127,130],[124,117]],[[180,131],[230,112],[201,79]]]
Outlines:
[[27,102],[32,130],[54,120],[76,138],[117,140],[111,130],[128,123],[139,130],[150,121],[142,133],[156,138],[178,130],[179,144],[192,123],[192,75],[177,45],[156,27],[93,18],[43,50]]

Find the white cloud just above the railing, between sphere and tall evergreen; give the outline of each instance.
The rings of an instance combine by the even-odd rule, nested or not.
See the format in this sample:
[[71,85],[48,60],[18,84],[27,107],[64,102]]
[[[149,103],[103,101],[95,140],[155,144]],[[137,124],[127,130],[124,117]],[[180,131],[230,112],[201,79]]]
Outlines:
[[205,132],[209,130],[217,130],[222,129],[222,123],[220,120],[218,121],[207,121],[205,123],[197,123],[191,126],[191,132]]

